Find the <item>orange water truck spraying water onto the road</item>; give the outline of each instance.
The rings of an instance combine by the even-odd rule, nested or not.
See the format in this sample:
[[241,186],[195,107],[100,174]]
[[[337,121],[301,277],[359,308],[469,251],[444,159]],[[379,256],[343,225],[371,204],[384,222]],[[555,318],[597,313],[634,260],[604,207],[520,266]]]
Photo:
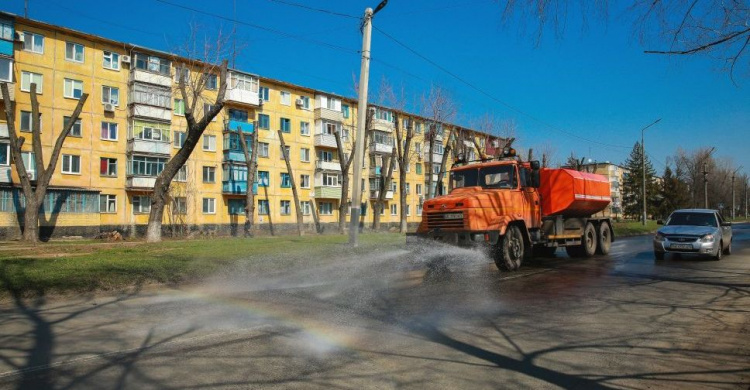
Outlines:
[[602,211],[610,201],[605,176],[541,168],[505,148],[497,158],[457,160],[448,194],[424,202],[419,228],[407,239],[485,247],[504,270],[559,247],[571,257],[606,255],[614,232]]

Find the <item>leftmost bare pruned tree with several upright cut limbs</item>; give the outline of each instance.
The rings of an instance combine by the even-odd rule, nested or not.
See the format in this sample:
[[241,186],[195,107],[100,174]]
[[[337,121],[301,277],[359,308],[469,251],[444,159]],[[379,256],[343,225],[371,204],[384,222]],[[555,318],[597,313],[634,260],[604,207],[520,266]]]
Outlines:
[[[42,153],[39,101],[37,99],[36,83],[31,83],[29,89],[31,95],[31,150],[34,154],[33,164],[37,175],[36,183],[32,186],[32,179],[29,177],[27,167],[24,165],[21,157],[21,147],[26,139],[16,134],[16,104],[10,100],[10,91],[8,90],[7,83],[0,84],[0,89],[2,89],[3,102],[5,103],[5,117],[8,125],[8,136],[10,138],[10,155],[13,163],[16,165],[16,173],[18,174],[21,189],[26,199],[26,207],[23,214],[22,239],[26,242],[37,243],[39,242],[39,206],[44,202],[44,197],[47,194],[52,174],[55,173],[57,160],[60,158],[60,151],[65,139],[70,134],[73,124],[81,115],[81,110],[83,110],[83,105],[86,103],[89,95],[84,93],[78,99],[75,110],[73,110],[67,122],[63,124],[62,131],[57,136],[55,145],[52,148],[52,154],[50,154],[49,163],[45,167],[44,155]],[[50,212],[53,211],[50,210]]]

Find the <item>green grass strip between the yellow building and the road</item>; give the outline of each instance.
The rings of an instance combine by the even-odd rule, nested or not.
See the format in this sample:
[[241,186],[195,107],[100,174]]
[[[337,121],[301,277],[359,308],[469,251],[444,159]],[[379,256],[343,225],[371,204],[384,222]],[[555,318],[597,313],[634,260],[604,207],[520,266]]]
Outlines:
[[0,250],[0,297],[11,293],[119,290],[199,280],[237,266],[251,272],[324,264],[341,254],[403,246],[400,234],[363,234],[356,249],[341,235],[168,240],[161,243],[49,242],[36,247],[5,242]]

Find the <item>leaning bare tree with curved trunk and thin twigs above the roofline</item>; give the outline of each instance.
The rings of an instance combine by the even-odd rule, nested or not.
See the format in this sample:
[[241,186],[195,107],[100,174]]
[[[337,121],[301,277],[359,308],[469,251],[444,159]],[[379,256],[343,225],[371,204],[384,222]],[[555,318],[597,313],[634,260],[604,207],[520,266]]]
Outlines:
[[[224,95],[227,90],[227,38],[219,37],[216,41],[205,41],[202,50],[196,49],[197,28],[191,29],[191,37],[185,48],[183,58],[175,58],[176,62],[181,64],[177,66],[177,92],[185,104],[185,121],[187,129],[185,142],[177,153],[167,161],[164,169],[156,177],[154,192],[151,195],[151,212],[148,216],[148,229],[146,231],[146,241],[161,241],[161,226],[164,218],[164,204],[169,193],[169,186],[172,183],[177,172],[185,164],[193,150],[206,130],[206,127],[224,108]],[[219,58],[219,65],[216,65]],[[205,96],[206,86],[209,78],[216,77],[219,74],[219,89],[216,98],[212,101]],[[208,109],[205,109],[205,103],[211,101]],[[202,112],[200,117],[196,115]]]

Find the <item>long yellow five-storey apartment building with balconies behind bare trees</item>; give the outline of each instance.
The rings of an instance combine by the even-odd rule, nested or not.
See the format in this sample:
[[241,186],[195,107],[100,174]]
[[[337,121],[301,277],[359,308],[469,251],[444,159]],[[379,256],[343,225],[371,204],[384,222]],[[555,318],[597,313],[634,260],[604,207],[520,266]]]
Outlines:
[[[16,130],[25,136],[23,161],[33,172],[29,89],[37,86],[41,140],[45,163],[66,116],[83,93],[89,94],[78,122],[66,139],[43,206],[42,235],[95,235],[118,230],[139,235],[145,230],[150,194],[157,175],[185,139],[185,102],[177,89],[182,77],[194,79],[200,64],[106,38],[0,13],[0,82],[6,82],[15,102]],[[218,75],[209,76],[199,115],[216,96]],[[0,99],[2,99],[0,97]],[[0,103],[4,103],[0,101]],[[427,196],[427,175],[437,179],[448,129],[444,124],[434,150],[436,167],[428,166],[425,133],[428,120],[418,115],[372,106],[373,121],[364,161],[363,199],[366,226],[372,202],[385,174],[396,139],[395,115],[402,126],[413,126],[408,166],[393,173],[383,226],[396,226],[400,213],[416,224]],[[230,69],[225,107],[204,132],[201,142],[175,177],[172,201],[166,209],[167,232],[208,231],[234,234],[245,222],[247,190],[256,193],[255,226],[266,231],[289,230],[296,223],[290,179],[300,196],[303,220],[313,228],[313,213],[335,230],[341,197],[341,166],[334,133],[339,131],[351,152],[356,135],[357,102],[253,73]],[[278,131],[289,148],[290,175],[281,153]],[[239,131],[258,132],[256,181],[247,185],[247,169]],[[484,136],[466,130],[469,137]],[[249,139],[249,137],[248,137]],[[477,155],[470,138],[469,158]],[[0,114],[0,238],[20,233],[24,200],[10,159],[8,125]],[[489,144],[487,145],[489,148]],[[407,171],[407,208],[400,210],[398,169]],[[352,174],[353,167],[350,170]],[[447,175],[444,179],[447,183]],[[351,183],[350,185],[355,185]],[[248,188],[250,187],[250,188]],[[351,195],[351,190],[349,191]],[[349,205],[349,203],[348,203]],[[348,207],[347,207],[348,208]],[[168,233],[169,234],[169,233]]]

